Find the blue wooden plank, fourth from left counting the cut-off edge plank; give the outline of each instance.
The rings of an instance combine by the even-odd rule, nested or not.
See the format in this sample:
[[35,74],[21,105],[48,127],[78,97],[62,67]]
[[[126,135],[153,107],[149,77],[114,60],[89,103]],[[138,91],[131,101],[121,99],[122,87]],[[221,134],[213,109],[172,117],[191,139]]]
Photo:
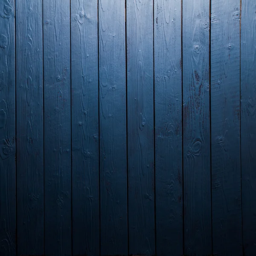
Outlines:
[[99,255],[97,15],[97,1],[71,1],[73,255]]

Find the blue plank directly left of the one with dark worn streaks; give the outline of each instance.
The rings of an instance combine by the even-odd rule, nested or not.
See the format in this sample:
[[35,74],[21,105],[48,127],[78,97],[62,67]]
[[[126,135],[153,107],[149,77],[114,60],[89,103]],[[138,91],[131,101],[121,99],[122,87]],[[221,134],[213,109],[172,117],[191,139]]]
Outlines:
[[181,1],[154,2],[156,253],[183,254]]

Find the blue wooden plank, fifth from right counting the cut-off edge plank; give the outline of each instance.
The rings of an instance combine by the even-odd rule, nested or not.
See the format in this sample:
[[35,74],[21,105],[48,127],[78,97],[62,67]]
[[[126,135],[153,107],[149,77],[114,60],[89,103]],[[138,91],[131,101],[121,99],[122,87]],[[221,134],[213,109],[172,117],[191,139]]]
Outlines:
[[155,254],[153,1],[127,0],[129,253]]

